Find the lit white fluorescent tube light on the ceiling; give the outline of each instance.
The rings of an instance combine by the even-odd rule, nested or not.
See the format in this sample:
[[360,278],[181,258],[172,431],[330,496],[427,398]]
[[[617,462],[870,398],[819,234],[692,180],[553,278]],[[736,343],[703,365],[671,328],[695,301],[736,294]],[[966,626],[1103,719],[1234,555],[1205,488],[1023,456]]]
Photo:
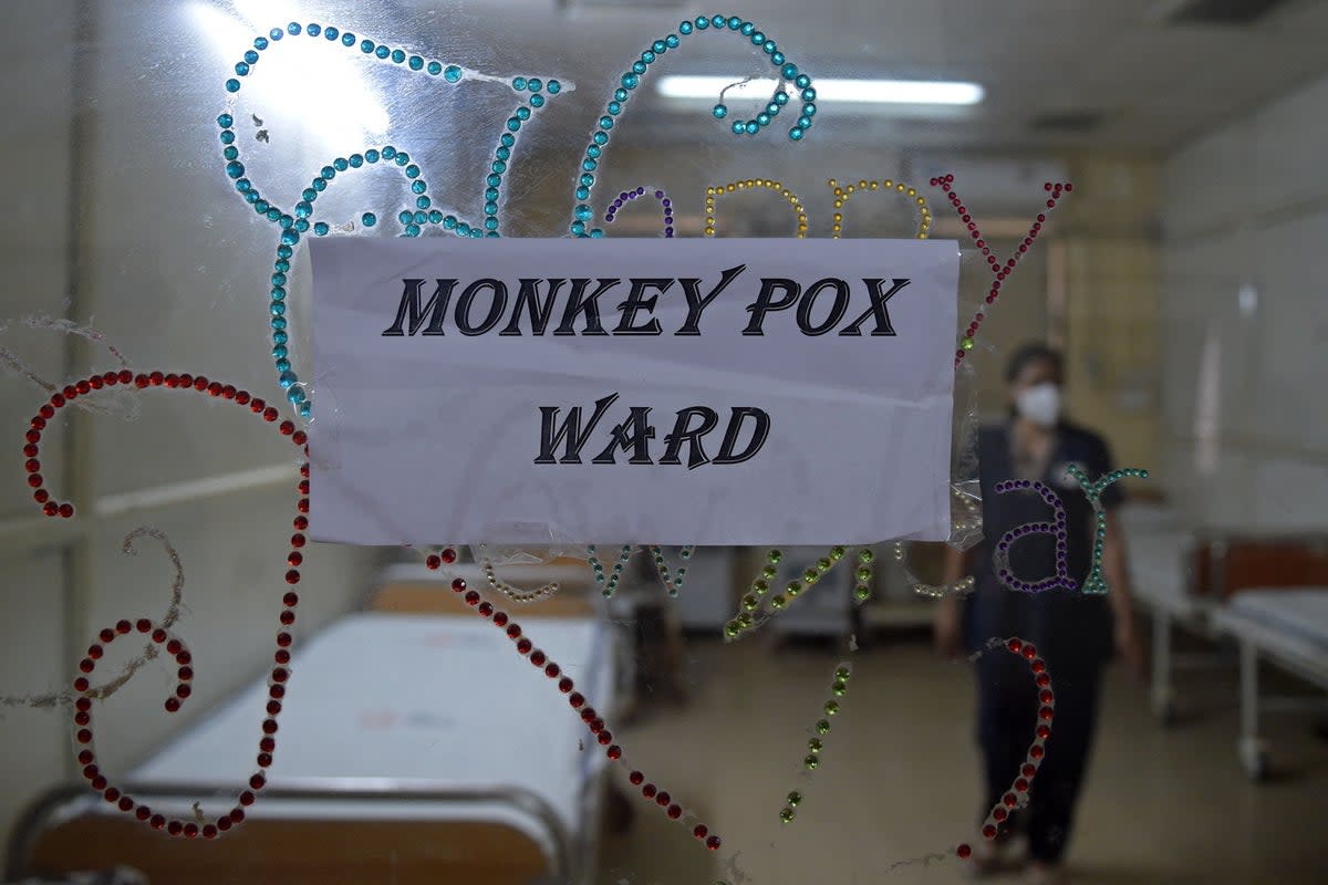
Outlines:
[[[665,98],[717,100],[758,98],[772,94],[778,80],[746,80],[741,77],[663,77],[659,93]],[[977,84],[944,82],[932,80],[814,80],[817,101],[855,102],[870,105],[976,105],[985,94]]]

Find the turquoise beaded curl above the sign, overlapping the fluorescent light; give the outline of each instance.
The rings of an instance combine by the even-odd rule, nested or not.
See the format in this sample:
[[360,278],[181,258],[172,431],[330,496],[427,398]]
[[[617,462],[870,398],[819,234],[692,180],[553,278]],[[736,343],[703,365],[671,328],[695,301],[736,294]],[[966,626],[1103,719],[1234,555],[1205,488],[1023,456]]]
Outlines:
[[[572,222],[570,227],[572,236],[604,236],[603,230],[598,227],[586,227],[587,222],[595,216],[595,211],[590,207],[590,195],[591,190],[595,187],[595,171],[599,169],[599,163],[603,162],[604,151],[608,147],[610,133],[614,131],[615,121],[619,114],[623,113],[627,102],[632,97],[632,93],[641,85],[651,65],[659,61],[664,53],[671,49],[677,49],[685,37],[704,32],[733,32],[746,37],[753,46],[757,46],[769,57],[770,64],[780,72],[781,82],[776,88],[774,94],[770,96],[770,101],[766,103],[765,110],[758,113],[752,119],[734,119],[729,123],[734,135],[756,135],[762,129],[773,123],[781,109],[786,107],[791,101],[790,93],[786,89],[788,84],[791,84],[797,89],[795,94],[802,101],[801,107],[794,105],[795,109],[801,110],[801,114],[798,115],[797,122],[789,129],[789,141],[802,141],[802,137],[811,129],[813,118],[817,114],[817,89],[811,85],[811,77],[802,73],[795,64],[789,61],[784,50],[776,45],[774,40],[758,31],[754,23],[745,21],[738,16],[725,17],[721,15],[697,16],[693,20],[684,20],[679,23],[677,33],[671,33],[660,40],[655,40],[644,52],[641,52],[640,57],[631,64],[629,70],[624,72],[619,78],[620,85],[614,90],[612,97],[604,105],[604,113],[596,121],[595,129],[591,133],[590,145],[586,146],[586,154],[580,163],[582,171],[575,179],[576,187],[572,194],[576,198],[576,206],[572,208]],[[722,102],[722,96],[720,103],[717,103],[710,113],[714,119],[728,119],[729,109]]]

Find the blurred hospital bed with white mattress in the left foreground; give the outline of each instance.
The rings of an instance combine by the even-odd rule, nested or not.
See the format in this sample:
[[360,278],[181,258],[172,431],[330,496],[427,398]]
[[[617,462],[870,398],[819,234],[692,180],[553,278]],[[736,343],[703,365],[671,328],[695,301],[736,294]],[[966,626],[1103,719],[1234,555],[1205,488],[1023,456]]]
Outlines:
[[[485,586],[474,567],[457,572]],[[505,572],[550,579],[548,567]],[[389,569],[369,610],[297,647],[268,785],[242,827],[170,839],[86,788],[61,788],[15,829],[11,878],[127,866],[153,884],[592,881],[610,763],[452,577]],[[612,722],[615,642],[598,594],[564,585],[526,608],[486,596]],[[134,768],[129,791],[185,817],[195,800],[205,813],[228,808],[254,771],[266,701],[259,682],[220,705]]]

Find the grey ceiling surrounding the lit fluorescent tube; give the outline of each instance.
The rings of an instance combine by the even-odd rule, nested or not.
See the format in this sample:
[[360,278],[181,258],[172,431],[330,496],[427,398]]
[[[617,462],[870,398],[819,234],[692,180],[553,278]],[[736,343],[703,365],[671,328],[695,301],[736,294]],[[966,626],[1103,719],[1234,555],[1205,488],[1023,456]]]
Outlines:
[[[1214,3],[1214,0],[1208,0]],[[1222,0],[1231,5],[1239,0]],[[1258,0],[1244,0],[1258,4]],[[700,8],[668,0],[489,0],[404,4],[449,29],[502,21],[493,61],[571,58],[612,72]],[[744,4],[734,4],[744,5]],[[991,150],[1101,149],[1159,153],[1328,72],[1328,3],[1287,0],[1254,24],[1177,24],[1183,0],[760,0],[746,15],[813,76],[969,80],[987,88],[973,109],[879,113],[825,106],[818,134],[892,146]],[[708,9],[714,12],[713,8]],[[494,41],[499,42],[499,41]],[[668,73],[769,76],[745,41],[696,40]],[[652,74],[656,73],[652,69]],[[616,84],[615,84],[616,85]],[[673,117],[705,113],[652,96],[653,125],[633,137],[685,131]],[[641,111],[640,102],[635,111]],[[1045,130],[1040,117],[1097,118],[1084,130]],[[1073,121],[1070,121],[1073,122]],[[625,135],[627,133],[624,133]]]

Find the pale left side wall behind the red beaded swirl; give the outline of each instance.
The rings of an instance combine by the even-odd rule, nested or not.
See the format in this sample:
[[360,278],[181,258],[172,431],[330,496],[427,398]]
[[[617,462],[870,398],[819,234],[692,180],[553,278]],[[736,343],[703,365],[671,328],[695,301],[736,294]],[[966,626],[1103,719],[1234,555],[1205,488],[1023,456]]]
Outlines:
[[[0,348],[60,385],[117,368],[101,346],[21,321],[68,317],[98,328],[135,369],[202,373],[280,401],[264,341],[275,228],[246,210],[220,170],[216,84],[179,76],[199,38],[195,23],[154,16],[146,45],[149,12],[137,3],[5,8],[0,50],[23,76],[0,84],[0,155],[15,172],[0,212],[0,321],[8,324]],[[155,54],[124,50],[139,45]],[[288,143],[304,150],[296,138]],[[0,374],[0,435],[9,441],[0,471],[0,695],[65,690],[100,629],[161,617],[170,561],[150,539],[137,544],[137,556],[121,545],[138,525],[165,531],[186,576],[177,630],[193,650],[194,694],[181,713],[165,714],[173,673],[150,663],[96,707],[102,768],[124,776],[270,666],[288,589],[296,452],[234,406],[147,391],[137,397],[134,418],[73,414],[52,422],[41,441],[42,474],[78,513],[49,520],[32,503],[16,442],[45,395],[13,372]],[[238,483],[255,468],[256,482]],[[179,495],[182,484],[199,480],[215,480],[218,491]],[[135,504],[143,492],[165,496]],[[376,560],[374,551],[308,553],[301,637],[360,600]],[[112,646],[96,682],[117,675],[141,647]],[[28,801],[77,776],[69,713],[0,706],[0,746],[7,839]],[[234,772],[235,783],[248,774]]]

